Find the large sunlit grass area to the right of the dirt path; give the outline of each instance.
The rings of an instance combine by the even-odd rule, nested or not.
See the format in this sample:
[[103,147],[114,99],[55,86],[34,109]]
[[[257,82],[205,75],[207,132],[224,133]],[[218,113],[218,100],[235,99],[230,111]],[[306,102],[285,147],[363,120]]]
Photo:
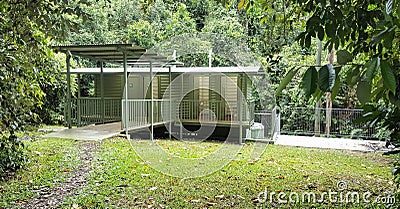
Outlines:
[[[148,143],[141,141],[141,143]],[[201,158],[218,149],[219,143],[182,143],[159,141],[172,157]],[[234,145],[232,145],[234,146]],[[84,208],[253,208],[279,207],[272,203],[254,204],[258,194],[268,192],[338,191],[344,181],[346,191],[366,192],[373,196],[392,193],[390,159],[377,153],[303,149],[270,145],[257,162],[249,161],[251,146],[217,172],[201,178],[176,178],[160,173],[143,162],[123,139],[105,140],[95,155],[94,172],[80,195],[69,197],[65,208],[78,204]],[[157,153],[154,153],[157,155]],[[364,208],[368,205],[300,204],[295,207]],[[293,205],[292,205],[293,206]],[[371,205],[370,205],[371,206]],[[371,207],[378,207],[372,205]]]

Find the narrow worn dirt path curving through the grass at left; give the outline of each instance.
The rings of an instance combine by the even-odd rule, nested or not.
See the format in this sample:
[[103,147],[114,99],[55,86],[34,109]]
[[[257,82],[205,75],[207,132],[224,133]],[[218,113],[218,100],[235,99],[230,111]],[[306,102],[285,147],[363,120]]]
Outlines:
[[23,208],[56,208],[60,206],[67,196],[74,195],[79,188],[83,187],[87,181],[87,175],[91,170],[91,162],[93,160],[93,153],[100,145],[99,142],[82,142],[79,144],[79,161],[81,162],[75,167],[65,182],[60,183],[58,187],[49,190],[48,188],[41,188],[36,191],[39,197],[29,200]]

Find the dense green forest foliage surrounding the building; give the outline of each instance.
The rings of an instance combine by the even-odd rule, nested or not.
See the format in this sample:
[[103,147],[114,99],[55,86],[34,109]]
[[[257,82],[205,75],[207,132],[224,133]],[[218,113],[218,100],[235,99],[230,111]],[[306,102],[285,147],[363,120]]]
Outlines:
[[[51,45],[132,43],[150,48],[195,32],[246,43],[278,90],[279,107],[313,107],[317,101],[324,106],[324,95],[331,93],[334,107],[364,108],[368,114],[363,122],[379,123],[391,130],[394,142],[400,139],[400,1],[0,3],[0,173],[14,171],[24,161],[17,131],[30,123],[62,122],[65,57],[54,54]],[[319,41],[322,62],[316,64]],[[330,63],[333,51],[336,61]],[[195,64],[201,62],[205,59],[199,57]],[[74,65],[96,63],[77,59]],[[81,82],[82,94],[90,95],[92,78]]]

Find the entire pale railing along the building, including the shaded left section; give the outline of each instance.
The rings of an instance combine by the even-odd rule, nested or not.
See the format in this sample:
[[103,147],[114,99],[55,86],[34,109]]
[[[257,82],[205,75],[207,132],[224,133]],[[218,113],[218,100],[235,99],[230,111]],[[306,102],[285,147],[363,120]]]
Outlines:
[[[251,121],[252,105],[242,105],[242,117],[239,117],[237,104],[228,106],[220,100],[182,100],[171,101],[153,99],[153,114],[151,114],[151,99],[128,99],[125,114],[125,100],[121,98],[81,97],[72,100],[72,122],[75,125],[88,125],[113,121],[122,121],[125,127],[127,117],[128,129],[148,126],[155,123],[171,121]],[[171,107],[170,107],[171,105]],[[151,117],[153,115],[153,118]]]

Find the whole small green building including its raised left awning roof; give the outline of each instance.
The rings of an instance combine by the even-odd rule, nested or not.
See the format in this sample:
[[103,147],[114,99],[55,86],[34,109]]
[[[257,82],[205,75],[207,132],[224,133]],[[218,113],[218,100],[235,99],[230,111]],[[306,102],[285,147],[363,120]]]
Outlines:
[[[259,67],[176,67],[176,61],[130,44],[54,48],[67,55],[69,127],[121,121],[127,136],[140,130],[148,130],[151,139],[160,133],[202,139],[233,134],[241,143],[253,122],[251,76]],[[71,69],[72,56],[123,68]],[[73,98],[71,74],[78,84],[81,75],[93,74],[94,96]]]

